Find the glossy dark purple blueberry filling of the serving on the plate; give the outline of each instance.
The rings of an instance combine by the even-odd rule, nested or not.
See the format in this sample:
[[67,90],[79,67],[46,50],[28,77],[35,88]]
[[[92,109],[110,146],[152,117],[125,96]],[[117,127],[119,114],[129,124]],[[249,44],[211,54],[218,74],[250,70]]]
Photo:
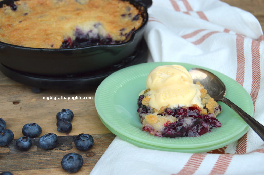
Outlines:
[[[138,98],[137,112],[140,116],[142,123],[142,117],[147,114],[154,113],[150,107],[142,104],[144,95]],[[215,109],[221,111],[221,106]],[[198,106],[190,106],[187,108],[165,108],[163,112],[157,114],[158,116],[173,116],[176,117],[176,122],[164,123],[165,128],[162,134],[155,131],[150,125],[145,125],[142,130],[151,133],[152,135],[159,137],[197,137],[202,134],[211,132],[213,128],[221,127],[221,123],[215,118],[213,113],[202,114],[201,109]]]

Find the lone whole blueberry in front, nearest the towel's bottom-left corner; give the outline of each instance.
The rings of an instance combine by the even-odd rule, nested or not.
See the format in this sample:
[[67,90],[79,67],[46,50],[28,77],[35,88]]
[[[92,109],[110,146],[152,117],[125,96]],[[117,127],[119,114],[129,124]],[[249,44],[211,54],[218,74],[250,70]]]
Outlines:
[[80,154],[69,153],[62,158],[62,168],[68,173],[75,173],[83,166],[83,158]]

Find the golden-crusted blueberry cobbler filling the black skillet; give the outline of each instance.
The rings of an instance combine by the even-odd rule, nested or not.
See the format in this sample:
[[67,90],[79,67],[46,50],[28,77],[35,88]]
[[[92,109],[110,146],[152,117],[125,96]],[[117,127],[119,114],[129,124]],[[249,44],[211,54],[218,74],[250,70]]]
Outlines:
[[0,41],[34,48],[118,44],[143,22],[121,0],[19,0],[0,8],[0,19]]

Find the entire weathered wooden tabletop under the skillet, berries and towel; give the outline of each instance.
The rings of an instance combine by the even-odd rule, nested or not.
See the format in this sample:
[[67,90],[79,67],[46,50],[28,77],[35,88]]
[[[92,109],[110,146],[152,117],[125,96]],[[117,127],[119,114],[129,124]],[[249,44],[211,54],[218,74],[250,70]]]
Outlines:
[[[260,21],[264,28],[264,1],[263,0],[223,0],[232,6],[251,12]],[[92,97],[87,100],[45,100],[48,96]],[[115,138],[100,121],[95,104],[95,90],[87,91],[57,91],[46,90],[41,93],[32,93],[31,87],[14,82],[0,73],[0,118],[7,123],[15,135],[10,145],[0,148],[0,172],[11,171],[19,174],[66,174],[60,165],[62,157],[67,153],[81,154],[84,165],[76,174],[89,174],[98,159]],[[59,133],[56,127],[56,114],[63,108],[74,112],[73,129],[69,135]],[[36,122],[42,128],[42,135],[55,133],[59,136],[59,144],[52,150],[39,147],[38,139],[33,139],[33,146],[29,151],[17,151],[16,139],[22,137],[22,127],[26,123]],[[89,151],[78,151],[74,147],[74,136],[86,133],[91,134],[95,145]]]

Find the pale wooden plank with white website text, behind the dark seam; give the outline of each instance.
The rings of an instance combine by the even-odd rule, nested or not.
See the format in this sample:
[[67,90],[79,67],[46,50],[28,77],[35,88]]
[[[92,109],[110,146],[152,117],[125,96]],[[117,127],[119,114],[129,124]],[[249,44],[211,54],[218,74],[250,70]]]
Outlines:
[[[1,82],[1,81],[0,81]],[[59,133],[56,127],[56,114],[63,108],[71,109],[74,113],[73,129],[70,135],[80,133],[103,134],[111,133],[98,117],[94,95],[95,91],[77,92],[75,94],[63,91],[47,90],[41,93],[32,93],[27,86],[1,86],[0,91],[0,118],[7,123],[7,129],[14,132],[15,138],[22,137],[22,128],[26,123],[36,122],[42,128],[42,134]],[[93,99],[79,100],[46,100],[43,97],[92,97]]]

